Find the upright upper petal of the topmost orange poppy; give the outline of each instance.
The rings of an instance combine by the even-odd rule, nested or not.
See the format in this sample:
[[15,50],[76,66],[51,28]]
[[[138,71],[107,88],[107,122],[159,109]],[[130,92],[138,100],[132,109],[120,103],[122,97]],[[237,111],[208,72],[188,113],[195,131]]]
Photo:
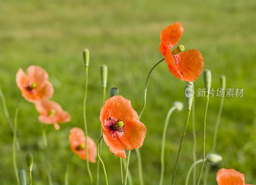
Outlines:
[[182,33],[183,27],[181,26],[180,22],[173,23],[172,25],[169,25],[166,28],[164,28],[160,35],[160,52],[163,55],[165,55],[164,50],[166,50],[166,46],[164,45],[164,42],[166,42],[169,49],[171,49],[174,45],[176,45],[179,42]]

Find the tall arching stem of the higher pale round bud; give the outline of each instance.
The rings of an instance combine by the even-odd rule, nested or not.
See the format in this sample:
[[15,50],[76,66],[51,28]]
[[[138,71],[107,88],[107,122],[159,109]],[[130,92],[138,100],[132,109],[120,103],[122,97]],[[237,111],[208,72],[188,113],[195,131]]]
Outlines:
[[169,119],[171,117],[172,112],[176,109],[175,106],[173,106],[167,113],[167,116],[165,118],[164,122],[164,131],[163,131],[163,137],[162,137],[162,148],[161,148],[161,175],[160,175],[160,181],[159,185],[163,184],[164,181],[164,146],[165,146],[165,138],[166,138],[166,132],[167,132],[167,127],[169,123]]

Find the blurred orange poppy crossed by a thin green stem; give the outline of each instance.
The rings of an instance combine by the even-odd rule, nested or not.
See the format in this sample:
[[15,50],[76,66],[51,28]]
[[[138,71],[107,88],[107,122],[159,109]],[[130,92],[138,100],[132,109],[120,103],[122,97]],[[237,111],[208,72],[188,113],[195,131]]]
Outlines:
[[[69,143],[72,152],[77,154],[80,159],[86,160],[86,152],[85,152],[85,136],[84,132],[81,128],[73,127],[70,130],[69,134]],[[87,150],[88,150],[88,160],[92,163],[96,162],[97,152],[96,152],[96,144],[87,136]]]

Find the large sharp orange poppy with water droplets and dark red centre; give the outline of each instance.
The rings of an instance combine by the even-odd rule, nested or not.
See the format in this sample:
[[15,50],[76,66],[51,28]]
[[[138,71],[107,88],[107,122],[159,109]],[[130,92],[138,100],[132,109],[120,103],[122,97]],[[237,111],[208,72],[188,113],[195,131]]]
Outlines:
[[100,122],[103,139],[115,156],[126,158],[124,147],[133,150],[142,146],[146,127],[130,100],[122,96],[108,98],[100,110]]

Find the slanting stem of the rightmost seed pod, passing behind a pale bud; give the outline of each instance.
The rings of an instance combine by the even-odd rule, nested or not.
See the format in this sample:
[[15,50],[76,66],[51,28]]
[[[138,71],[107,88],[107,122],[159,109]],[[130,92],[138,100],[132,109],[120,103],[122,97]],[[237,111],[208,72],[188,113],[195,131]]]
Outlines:
[[[220,117],[221,117],[221,113],[222,113],[222,109],[223,109],[223,105],[224,105],[224,97],[225,96],[222,96],[221,100],[220,100],[220,109],[219,109],[219,112],[218,112],[218,116],[217,116],[217,120],[216,120],[216,125],[215,125],[215,129],[214,129],[211,153],[214,153],[215,149],[216,149],[217,134],[218,134],[218,129],[219,129],[219,125],[220,125]],[[210,169],[210,164],[207,163],[206,169],[205,169],[205,173],[204,173],[204,185],[207,184],[207,177],[208,177],[209,169]]]

